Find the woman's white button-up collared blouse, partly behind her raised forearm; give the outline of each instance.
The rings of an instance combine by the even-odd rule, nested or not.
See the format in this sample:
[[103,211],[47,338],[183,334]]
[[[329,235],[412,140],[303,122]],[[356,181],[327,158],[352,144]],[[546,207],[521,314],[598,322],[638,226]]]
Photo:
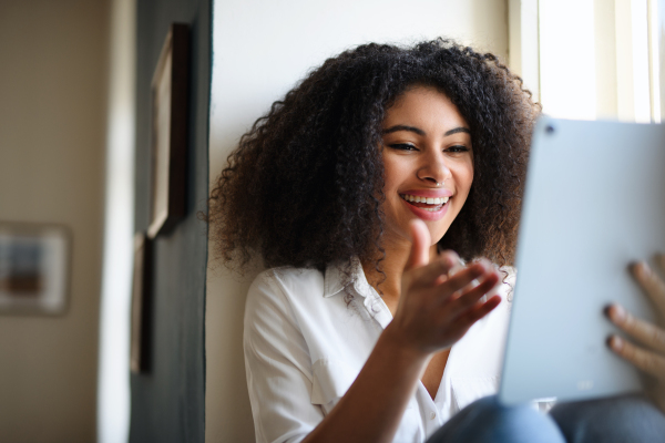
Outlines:
[[[462,408],[497,393],[509,289],[500,287],[499,307],[452,347],[436,398],[418,383],[393,442],[423,442]],[[345,394],[391,320],[357,260],[325,274],[262,272],[247,296],[244,338],[256,441],[300,442]]]

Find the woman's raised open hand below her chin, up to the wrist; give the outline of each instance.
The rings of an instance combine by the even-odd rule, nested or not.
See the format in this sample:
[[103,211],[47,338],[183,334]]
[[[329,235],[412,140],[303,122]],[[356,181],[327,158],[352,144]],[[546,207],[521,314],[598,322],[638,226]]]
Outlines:
[[402,344],[423,354],[451,347],[501,302],[481,298],[500,280],[487,260],[461,266],[457,254],[429,259],[431,239],[420,219],[410,225],[412,247],[401,280],[401,295],[390,324]]

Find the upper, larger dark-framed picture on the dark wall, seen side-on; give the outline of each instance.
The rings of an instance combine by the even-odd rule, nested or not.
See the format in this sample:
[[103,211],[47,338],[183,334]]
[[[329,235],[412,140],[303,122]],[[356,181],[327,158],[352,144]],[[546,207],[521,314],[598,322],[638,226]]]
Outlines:
[[185,215],[190,30],[174,23],[152,80],[152,195],[147,236]]

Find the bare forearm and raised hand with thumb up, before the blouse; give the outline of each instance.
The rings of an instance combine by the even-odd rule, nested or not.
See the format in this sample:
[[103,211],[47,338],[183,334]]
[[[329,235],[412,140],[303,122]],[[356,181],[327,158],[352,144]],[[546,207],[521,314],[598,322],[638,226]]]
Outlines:
[[412,223],[411,236],[393,321],[356,381],[305,443],[390,442],[431,356],[451,347],[501,301],[499,296],[480,301],[499,282],[491,265],[477,262],[448,277],[457,256],[444,253],[428,262],[429,231],[420,220]]

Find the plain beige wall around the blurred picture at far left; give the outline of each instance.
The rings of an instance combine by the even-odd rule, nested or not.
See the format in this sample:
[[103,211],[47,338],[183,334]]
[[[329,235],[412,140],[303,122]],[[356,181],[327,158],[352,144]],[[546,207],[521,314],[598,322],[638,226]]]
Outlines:
[[0,316],[0,441],[93,442],[105,0],[0,1],[0,219],[73,231],[70,310]]

